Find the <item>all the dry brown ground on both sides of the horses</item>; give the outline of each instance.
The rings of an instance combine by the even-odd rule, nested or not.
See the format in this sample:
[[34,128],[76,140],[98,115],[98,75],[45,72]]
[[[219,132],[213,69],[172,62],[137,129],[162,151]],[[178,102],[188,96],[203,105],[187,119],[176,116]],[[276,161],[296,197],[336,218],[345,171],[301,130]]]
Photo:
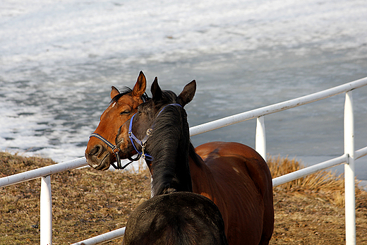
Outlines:
[[[0,153],[0,177],[51,164],[38,157]],[[273,177],[284,169],[299,168],[298,162],[284,159],[269,164]],[[270,244],[345,244],[342,180],[327,172],[323,176],[327,181],[319,176],[318,183],[301,179],[274,188],[275,230]],[[148,172],[83,168],[53,174],[51,181],[55,245],[124,227],[131,211],[150,196]],[[0,244],[40,244],[40,179],[2,187],[0,198]],[[367,244],[366,234],[367,193],[356,189],[357,244]]]

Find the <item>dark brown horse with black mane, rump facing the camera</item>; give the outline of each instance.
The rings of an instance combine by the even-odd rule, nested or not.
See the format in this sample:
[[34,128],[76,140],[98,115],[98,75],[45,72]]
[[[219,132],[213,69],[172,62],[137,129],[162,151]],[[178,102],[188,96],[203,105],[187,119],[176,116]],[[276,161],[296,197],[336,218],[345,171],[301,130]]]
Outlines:
[[[141,145],[142,154],[150,157],[155,196],[128,218],[123,244],[228,244],[215,203],[191,193],[190,136],[183,107],[193,99],[195,82],[186,85],[175,104],[164,100],[164,95],[176,98],[173,92],[162,94],[156,81],[153,85],[152,100],[140,104],[128,133]],[[134,148],[131,145],[131,151]]]

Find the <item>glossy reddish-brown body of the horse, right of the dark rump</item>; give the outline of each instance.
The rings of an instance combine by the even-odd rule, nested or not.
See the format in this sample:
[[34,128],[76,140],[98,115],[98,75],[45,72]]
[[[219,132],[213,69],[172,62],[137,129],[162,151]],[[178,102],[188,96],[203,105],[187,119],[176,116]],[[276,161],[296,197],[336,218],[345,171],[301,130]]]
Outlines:
[[215,201],[228,224],[229,243],[246,238],[248,244],[268,244],[274,208],[272,178],[263,157],[241,143],[205,143],[195,150],[203,157],[217,188],[207,196]]

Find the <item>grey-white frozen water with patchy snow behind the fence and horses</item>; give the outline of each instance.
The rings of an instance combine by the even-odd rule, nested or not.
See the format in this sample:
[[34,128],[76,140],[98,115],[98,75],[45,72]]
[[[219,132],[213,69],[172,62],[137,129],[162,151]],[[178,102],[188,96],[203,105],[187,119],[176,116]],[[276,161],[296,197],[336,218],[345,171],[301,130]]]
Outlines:
[[[366,77],[366,16],[363,0],[3,0],[0,149],[83,156],[111,86],[133,86],[140,70],[176,92],[197,80],[191,126]],[[354,104],[358,149],[367,88]],[[342,155],[343,106],[338,95],[266,116],[268,152]],[[192,141],[254,146],[254,135],[252,120]]]

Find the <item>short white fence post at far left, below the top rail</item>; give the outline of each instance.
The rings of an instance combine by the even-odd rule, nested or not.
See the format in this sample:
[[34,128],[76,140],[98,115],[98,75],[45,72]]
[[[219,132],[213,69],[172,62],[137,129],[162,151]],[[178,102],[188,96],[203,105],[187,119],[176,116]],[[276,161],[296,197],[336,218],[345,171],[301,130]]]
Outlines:
[[40,244],[52,245],[52,196],[50,176],[41,178]]

